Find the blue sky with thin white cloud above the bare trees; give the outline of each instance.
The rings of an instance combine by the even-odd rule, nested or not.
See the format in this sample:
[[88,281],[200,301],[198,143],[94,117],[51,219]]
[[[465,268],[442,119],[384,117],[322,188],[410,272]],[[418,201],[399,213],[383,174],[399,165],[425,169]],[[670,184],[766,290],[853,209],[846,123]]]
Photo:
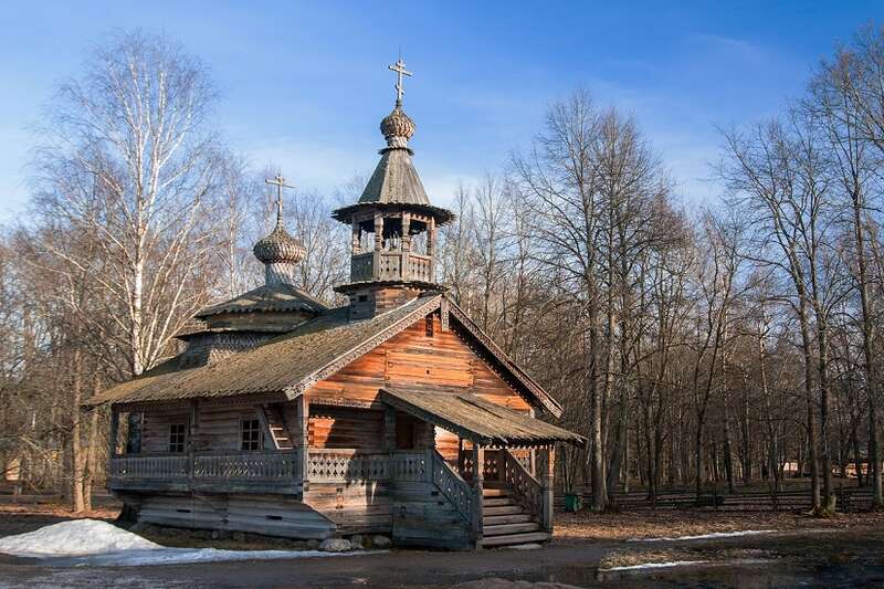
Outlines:
[[495,170],[576,87],[634,115],[688,202],[719,190],[716,125],[751,123],[881,2],[52,2],[0,0],[0,222],[27,211],[29,127],[114,29],[165,31],[210,69],[217,122],[255,166],[308,190],[368,173],[393,102],[406,109],[430,198]]

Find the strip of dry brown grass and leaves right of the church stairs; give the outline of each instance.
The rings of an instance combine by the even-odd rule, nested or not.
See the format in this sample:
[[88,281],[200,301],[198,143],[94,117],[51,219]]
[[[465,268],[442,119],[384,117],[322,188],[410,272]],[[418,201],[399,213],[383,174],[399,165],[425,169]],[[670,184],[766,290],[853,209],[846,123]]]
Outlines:
[[558,541],[625,540],[695,536],[750,529],[846,529],[884,526],[880,513],[836,514],[827,519],[800,513],[712,512],[699,509],[641,511],[611,514],[556,514]]

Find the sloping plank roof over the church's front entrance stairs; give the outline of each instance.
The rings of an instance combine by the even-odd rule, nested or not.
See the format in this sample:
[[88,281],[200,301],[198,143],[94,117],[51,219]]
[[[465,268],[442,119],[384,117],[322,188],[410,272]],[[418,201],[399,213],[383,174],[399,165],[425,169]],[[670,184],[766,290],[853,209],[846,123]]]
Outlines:
[[381,401],[390,407],[482,445],[538,446],[554,442],[582,445],[587,442],[582,435],[564,428],[454,388],[412,391],[385,387],[380,393]]

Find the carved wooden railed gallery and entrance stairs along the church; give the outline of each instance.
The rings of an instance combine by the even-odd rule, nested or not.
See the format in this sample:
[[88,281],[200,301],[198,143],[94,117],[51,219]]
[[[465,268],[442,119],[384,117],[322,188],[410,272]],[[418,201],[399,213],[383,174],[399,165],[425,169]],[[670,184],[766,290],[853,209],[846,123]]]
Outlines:
[[[474,445],[472,450],[462,450],[456,464],[451,464],[433,448],[383,453],[311,449],[306,467],[302,469],[298,451],[129,454],[110,460],[108,487],[119,492],[274,494],[301,498],[311,485],[383,485],[391,490],[391,507],[400,505],[401,509],[413,502],[409,495],[422,496],[427,525],[442,526],[439,534],[459,528],[473,546],[494,546],[526,530],[530,534],[524,541],[538,541],[548,538],[552,529],[551,449],[540,449],[536,460],[532,455],[534,452],[516,457],[506,449]],[[536,466],[534,472],[532,463]],[[475,464],[483,465],[478,475]],[[432,496],[436,498],[428,503],[427,497]],[[451,513],[457,515],[456,525],[448,519]],[[390,527],[396,537],[396,509],[391,508],[391,514]],[[413,523],[409,519],[399,525]]]

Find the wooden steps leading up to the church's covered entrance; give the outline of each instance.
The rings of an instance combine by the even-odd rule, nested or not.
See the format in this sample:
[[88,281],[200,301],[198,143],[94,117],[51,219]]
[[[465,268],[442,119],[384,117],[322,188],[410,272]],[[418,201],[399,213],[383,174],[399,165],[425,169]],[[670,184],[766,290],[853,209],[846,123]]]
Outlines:
[[516,503],[509,490],[502,484],[482,490],[482,548],[536,544],[548,541],[551,537],[540,529],[537,517]]

